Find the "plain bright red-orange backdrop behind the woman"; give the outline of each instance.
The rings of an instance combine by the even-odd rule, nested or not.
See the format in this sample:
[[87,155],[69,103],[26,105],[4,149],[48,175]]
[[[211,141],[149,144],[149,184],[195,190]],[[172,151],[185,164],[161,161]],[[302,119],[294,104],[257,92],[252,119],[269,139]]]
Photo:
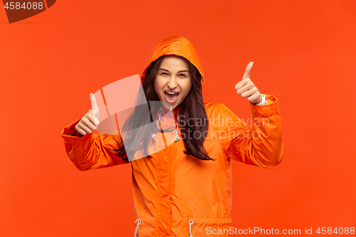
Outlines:
[[58,0],[9,24],[1,8],[0,236],[133,236],[130,164],[80,172],[60,134],[88,112],[89,93],[141,75],[174,35],[199,54],[206,102],[251,122],[234,90],[250,61],[253,83],[280,102],[283,162],[234,162],[233,226],[356,227],[355,9],[353,0]]

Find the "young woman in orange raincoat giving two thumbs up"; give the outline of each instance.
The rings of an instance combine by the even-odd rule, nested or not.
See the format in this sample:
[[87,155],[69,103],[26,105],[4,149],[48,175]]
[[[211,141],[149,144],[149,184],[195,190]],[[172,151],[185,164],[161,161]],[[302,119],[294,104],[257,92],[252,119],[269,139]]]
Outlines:
[[[145,99],[160,101],[150,114],[135,110],[118,135],[94,134],[90,94],[93,109],[64,127],[66,152],[81,171],[131,164],[135,236],[231,236],[231,159],[271,168],[283,157],[278,99],[261,95],[251,68],[235,89],[251,105],[252,127],[225,105],[203,102],[204,71],[182,36],[164,38],[142,73]],[[150,122],[155,126],[130,130]],[[147,155],[129,159],[137,151]]]

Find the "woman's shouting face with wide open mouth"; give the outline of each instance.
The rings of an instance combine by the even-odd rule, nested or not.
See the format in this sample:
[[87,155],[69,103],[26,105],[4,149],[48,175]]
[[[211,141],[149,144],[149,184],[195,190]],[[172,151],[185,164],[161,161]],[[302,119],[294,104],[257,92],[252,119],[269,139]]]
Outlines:
[[[172,110],[187,97],[192,88],[188,68],[188,63],[179,56],[165,56],[153,82],[159,100],[168,102]],[[164,107],[169,110],[167,106],[164,103]]]

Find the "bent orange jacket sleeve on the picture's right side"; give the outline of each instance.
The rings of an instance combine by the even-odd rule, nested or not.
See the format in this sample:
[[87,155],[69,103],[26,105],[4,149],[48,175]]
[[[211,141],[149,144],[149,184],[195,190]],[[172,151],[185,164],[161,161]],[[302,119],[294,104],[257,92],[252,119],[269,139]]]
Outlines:
[[245,164],[275,167],[283,158],[283,137],[278,99],[266,95],[267,105],[251,105],[251,126],[223,104],[216,105],[215,126],[227,156]]

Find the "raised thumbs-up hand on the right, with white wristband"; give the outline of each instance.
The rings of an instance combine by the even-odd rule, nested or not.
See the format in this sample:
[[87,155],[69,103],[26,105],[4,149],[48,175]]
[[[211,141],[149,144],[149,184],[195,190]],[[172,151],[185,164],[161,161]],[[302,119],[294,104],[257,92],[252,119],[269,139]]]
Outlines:
[[238,95],[241,95],[242,98],[247,98],[249,102],[257,105],[258,103],[262,102],[262,95],[257,89],[256,85],[254,85],[252,80],[250,79],[252,65],[253,62],[248,63],[245,70],[245,74],[242,77],[242,80],[235,85],[235,89],[236,93]]

